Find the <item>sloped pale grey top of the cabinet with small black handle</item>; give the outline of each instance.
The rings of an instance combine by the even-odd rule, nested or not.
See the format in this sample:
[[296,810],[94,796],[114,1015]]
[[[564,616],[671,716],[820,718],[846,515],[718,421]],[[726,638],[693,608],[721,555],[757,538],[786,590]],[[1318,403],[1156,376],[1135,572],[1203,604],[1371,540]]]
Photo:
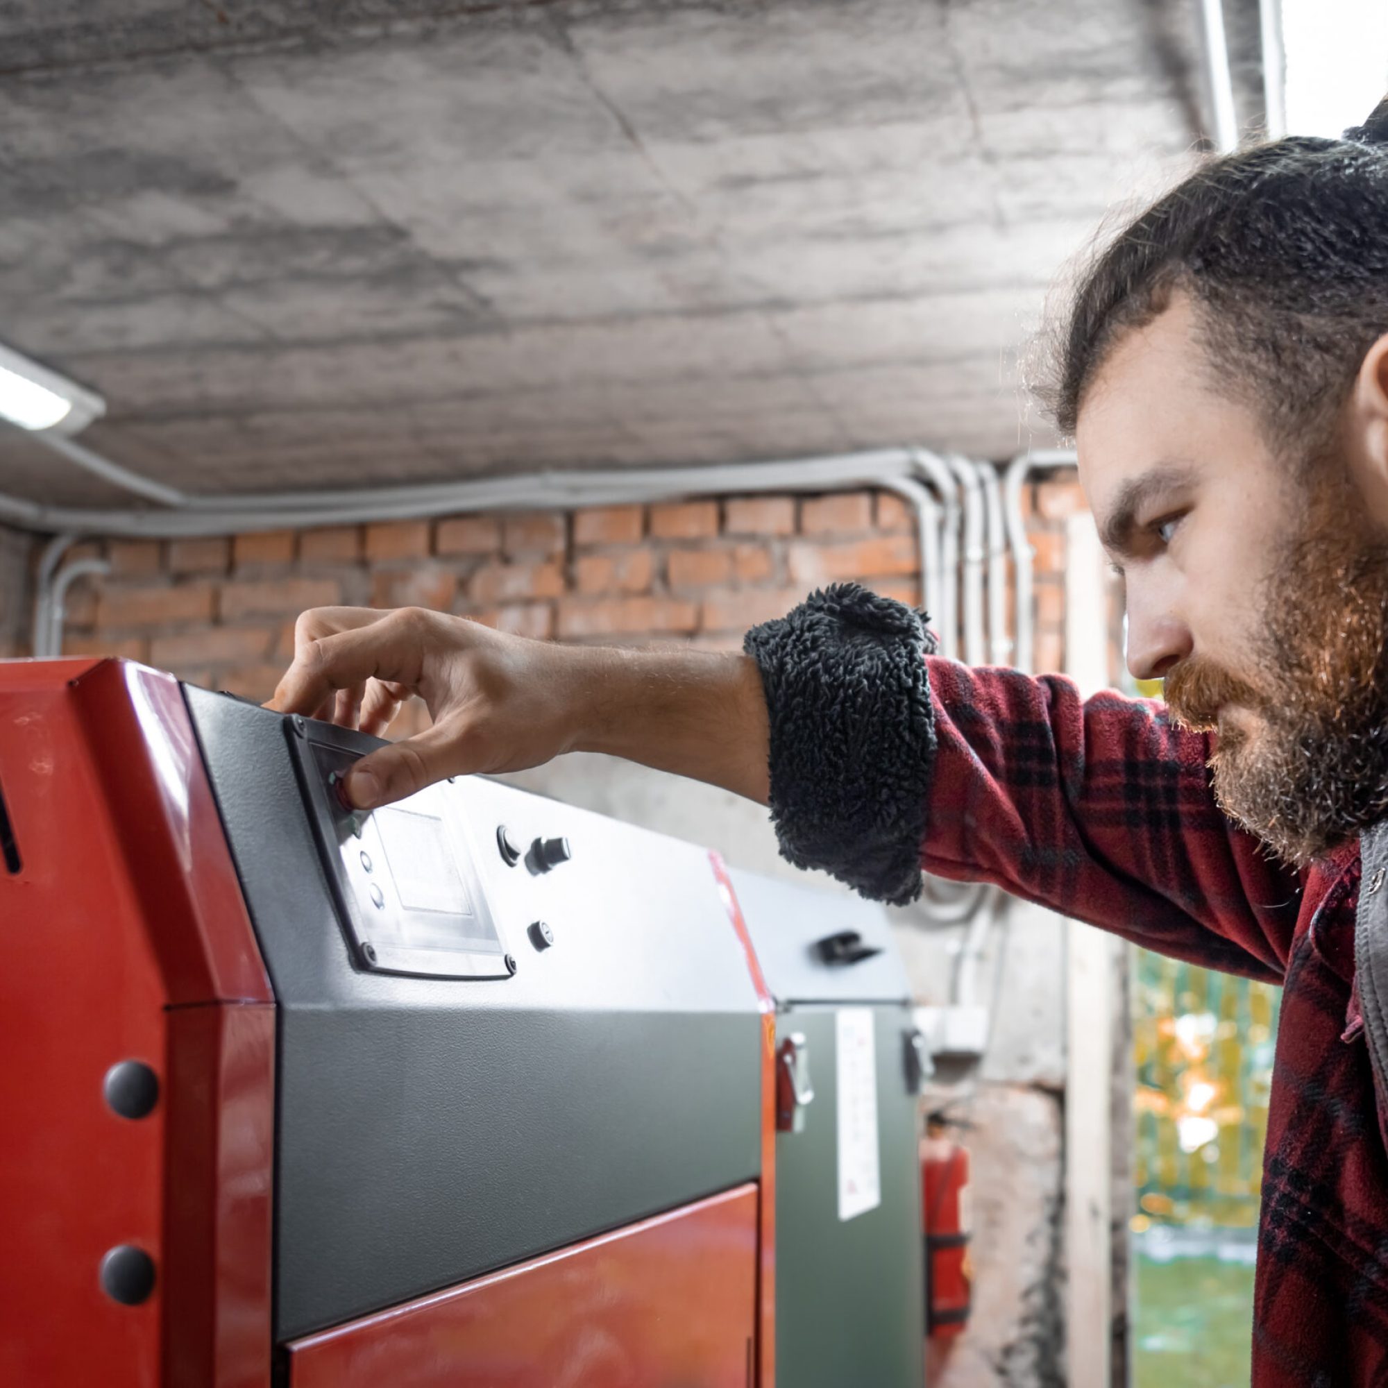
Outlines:
[[[756,958],[779,1006],[791,1002],[886,1002],[911,997],[884,906],[859,897],[838,897],[815,887],[729,873]],[[815,941],[856,930],[881,952],[851,965],[826,963]]]

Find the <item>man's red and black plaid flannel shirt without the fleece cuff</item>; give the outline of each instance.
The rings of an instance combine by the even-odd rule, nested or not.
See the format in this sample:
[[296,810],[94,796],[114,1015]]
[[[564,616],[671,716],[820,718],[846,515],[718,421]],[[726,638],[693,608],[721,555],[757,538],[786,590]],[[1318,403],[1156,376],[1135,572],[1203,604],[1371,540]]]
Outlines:
[[1208,738],[1160,704],[926,661],[930,872],[1283,984],[1253,1385],[1388,1382],[1388,1124],[1355,991],[1357,844],[1281,869],[1214,804]]

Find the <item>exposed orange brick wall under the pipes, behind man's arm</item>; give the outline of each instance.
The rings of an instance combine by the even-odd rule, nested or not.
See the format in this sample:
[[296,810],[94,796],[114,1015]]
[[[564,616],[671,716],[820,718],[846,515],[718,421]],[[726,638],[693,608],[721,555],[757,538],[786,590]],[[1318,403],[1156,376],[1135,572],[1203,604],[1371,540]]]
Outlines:
[[[1065,518],[1077,508],[1073,472],[1027,489],[1041,668],[1063,659]],[[112,572],[69,593],[67,652],[126,655],[250,698],[273,690],[308,607],[419,605],[534,637],[734,650],[748,626],[823,583],[919,601],[912,514],[866,490],[111,540],[74,554],[101,554]]]

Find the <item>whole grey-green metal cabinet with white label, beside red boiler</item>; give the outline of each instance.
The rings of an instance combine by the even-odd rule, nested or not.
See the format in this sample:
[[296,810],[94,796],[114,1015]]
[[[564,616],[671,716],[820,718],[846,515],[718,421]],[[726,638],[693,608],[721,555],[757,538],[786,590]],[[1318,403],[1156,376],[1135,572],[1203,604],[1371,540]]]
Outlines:
[[[920,1052],[887,913],[751,873],[733,886],[776,999],[783,1119],[798,1110],[776,1142],[777,1388],[922,1388]],[[822,942],[851,936],[833,962]],[[876,1192],[848,1184],[872,1174],[872,1134]]]

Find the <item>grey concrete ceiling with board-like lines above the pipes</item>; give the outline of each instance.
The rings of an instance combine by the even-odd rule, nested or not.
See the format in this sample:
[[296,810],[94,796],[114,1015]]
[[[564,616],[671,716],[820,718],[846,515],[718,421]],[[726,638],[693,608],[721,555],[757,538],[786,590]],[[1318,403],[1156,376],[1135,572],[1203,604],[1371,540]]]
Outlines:
[[[1256,6],[1255,6],[1256,8]],[[0,7],[0,337],[193,490],[1047,441],[1187,0]],[[118,494],[7,433],[0,490]]]

